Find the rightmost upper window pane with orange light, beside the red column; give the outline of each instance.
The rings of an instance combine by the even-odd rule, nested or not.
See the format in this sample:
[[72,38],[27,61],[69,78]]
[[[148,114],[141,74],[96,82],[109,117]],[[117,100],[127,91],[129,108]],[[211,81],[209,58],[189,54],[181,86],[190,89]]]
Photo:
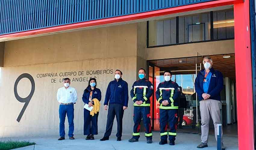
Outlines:
[[214,40],[234,38],[234,11],[221,10],[213,12]]

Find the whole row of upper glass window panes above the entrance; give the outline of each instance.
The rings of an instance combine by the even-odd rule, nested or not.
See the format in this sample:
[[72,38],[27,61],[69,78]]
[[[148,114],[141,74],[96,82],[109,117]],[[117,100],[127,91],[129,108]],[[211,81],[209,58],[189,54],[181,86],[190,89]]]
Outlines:
[[[179,19],[178,22],[176,18]],[[211,33],[211,23],[213,23],[213,33]],[[233,9],[214,11],[213,18],[211,12],[206,12],[148,22],[149,47],[230,38],[234,38]]]

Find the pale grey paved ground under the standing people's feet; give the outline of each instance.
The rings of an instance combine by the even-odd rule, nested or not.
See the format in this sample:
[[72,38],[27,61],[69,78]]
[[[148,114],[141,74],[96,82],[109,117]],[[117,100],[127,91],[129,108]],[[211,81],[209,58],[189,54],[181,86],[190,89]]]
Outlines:
[[[143,135],[144,133],[141,133]],[[83,135],[75,135],[75,140],[69,140],[66,136],[66,140],[58,141],[58,136],[55,137],[32,137],[32,138],[11,138],[12,140],[29,140],[30,142],[36,142],[34,146],[27,146],[16,150],[155,150],[155,149],[172,149],[172,150],[199,150],[196,148],[200,143],[200,137],[198,134],[186,134],[178,133],[176,137],[176,145],[170,146],[159,145],[159,132],[153,133],[153,143],[145,143],[145,137],[141,137],[139,142],[129,143],[128,140],[131,137],[130,134],[125,134],[122,137],[122,141],[117,142],[116,137],[112,135],[108,141],[99,141],[103,134],[95,136],[95,140],[85,140]],[[10,138],[9,138],[10,139]],[[8,139],[1,139],[2,141]],[[237,137],[224,136],[224,144],[227,150],[238,150]],[[209,136],[208,148],[204,150],[216,150],[216,141],[213,135]]]

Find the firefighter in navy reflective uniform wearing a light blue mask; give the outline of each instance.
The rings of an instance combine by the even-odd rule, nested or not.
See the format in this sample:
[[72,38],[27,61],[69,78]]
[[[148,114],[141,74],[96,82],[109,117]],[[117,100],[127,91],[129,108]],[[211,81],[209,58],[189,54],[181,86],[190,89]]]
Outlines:
[[152,143],[151,121],[150,121],[150,97],[153,93],[153,85],[150,81],[145,79],[145,69],[139,70],[139,80],[133,83],[131,90],[131,97],[134,102],[133,113],[133,137],[129,142],[139,141],[140,122],[143,119],[145,126],[145,137],[147,143]]

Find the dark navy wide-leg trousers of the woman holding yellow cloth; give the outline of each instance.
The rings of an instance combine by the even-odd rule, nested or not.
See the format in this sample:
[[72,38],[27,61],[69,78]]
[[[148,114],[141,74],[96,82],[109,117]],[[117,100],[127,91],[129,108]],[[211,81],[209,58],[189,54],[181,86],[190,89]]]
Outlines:
[[98,134],[98,115],[99,112],[92,116],[89,110],[83,109],[83,135]]

